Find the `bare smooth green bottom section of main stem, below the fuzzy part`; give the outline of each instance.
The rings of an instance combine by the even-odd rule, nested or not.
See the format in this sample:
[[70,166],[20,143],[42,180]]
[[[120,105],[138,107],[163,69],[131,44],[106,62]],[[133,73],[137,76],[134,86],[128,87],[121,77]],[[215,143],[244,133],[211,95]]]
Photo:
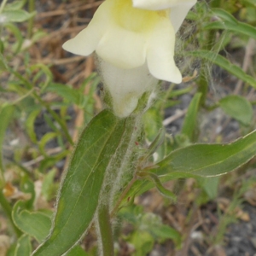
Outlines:
[[113,232],[108,205],[103,204],[98,210],[98,225],[101,236],[102,256],[113,256]]

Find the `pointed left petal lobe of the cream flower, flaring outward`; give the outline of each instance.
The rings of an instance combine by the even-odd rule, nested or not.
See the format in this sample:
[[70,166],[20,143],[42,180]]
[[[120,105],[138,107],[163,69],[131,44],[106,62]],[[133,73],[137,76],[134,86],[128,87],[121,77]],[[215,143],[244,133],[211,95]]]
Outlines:
[[63,49],[76,55],[90,55],[96,49],[103,33],[107,30],[111,22],[111,9],[112,3],[110,1],[102,3],[96,10],[90,24],[79,32],[75,38],[63,44]]

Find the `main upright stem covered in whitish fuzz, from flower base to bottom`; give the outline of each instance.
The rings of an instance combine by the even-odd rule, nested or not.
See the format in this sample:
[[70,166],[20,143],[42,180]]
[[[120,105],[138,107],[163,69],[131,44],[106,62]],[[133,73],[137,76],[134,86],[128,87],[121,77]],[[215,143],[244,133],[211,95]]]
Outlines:
[[[127,117],[125,120],[125,130],[123,131],[123,139],[119,143],[116,154],[113,155],[113,160],[108,166],[108,170],[105,177],[105,187],[102,189],[102,204],[98,208],[96,214],[96,226],[98,232],[98,245],[99,255],[101,256],[113,256],[113,230],[111,226],[111,218],[113,213],[116,213],[119,209],[119,204],[124,199],[124,196],[131,189],[132,183],[135,181],[135,177],[128,182],[125,186],[126,189],[118,198],[118,202],[113,209],[113,201],[115,201],[116,195],[119,195],[119,189],[122,187],[122,183],[126,181],[122,178],[127,177],[124,174],[131,172],[131,166],[133,158],[135,157],[136,148],[134,147],[137,139],[138,132],[140,131],[141,114]],[[134,151],[135,150],[135,151]],[[137,156],[137,154],[136,154]],[[110,211],[113,209],[112,213]]]

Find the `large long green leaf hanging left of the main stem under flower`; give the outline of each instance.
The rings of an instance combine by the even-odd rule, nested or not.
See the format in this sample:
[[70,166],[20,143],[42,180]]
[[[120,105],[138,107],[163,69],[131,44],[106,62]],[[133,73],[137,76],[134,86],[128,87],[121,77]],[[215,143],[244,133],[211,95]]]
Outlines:
[[106,169],[122,144],[128,119],[103,110],[85,127],[61,185],[52,232],[34,256],[67,253],[90,227]]

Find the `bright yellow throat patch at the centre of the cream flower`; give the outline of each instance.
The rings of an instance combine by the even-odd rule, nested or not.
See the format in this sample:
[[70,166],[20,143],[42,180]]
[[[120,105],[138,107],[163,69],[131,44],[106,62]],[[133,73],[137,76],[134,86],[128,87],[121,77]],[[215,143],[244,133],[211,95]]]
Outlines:
[[168,18],[170,10],[145,10],[132,7],[131,0],[113,0],[113,19],[132,32],[147,32],[160,18]]

